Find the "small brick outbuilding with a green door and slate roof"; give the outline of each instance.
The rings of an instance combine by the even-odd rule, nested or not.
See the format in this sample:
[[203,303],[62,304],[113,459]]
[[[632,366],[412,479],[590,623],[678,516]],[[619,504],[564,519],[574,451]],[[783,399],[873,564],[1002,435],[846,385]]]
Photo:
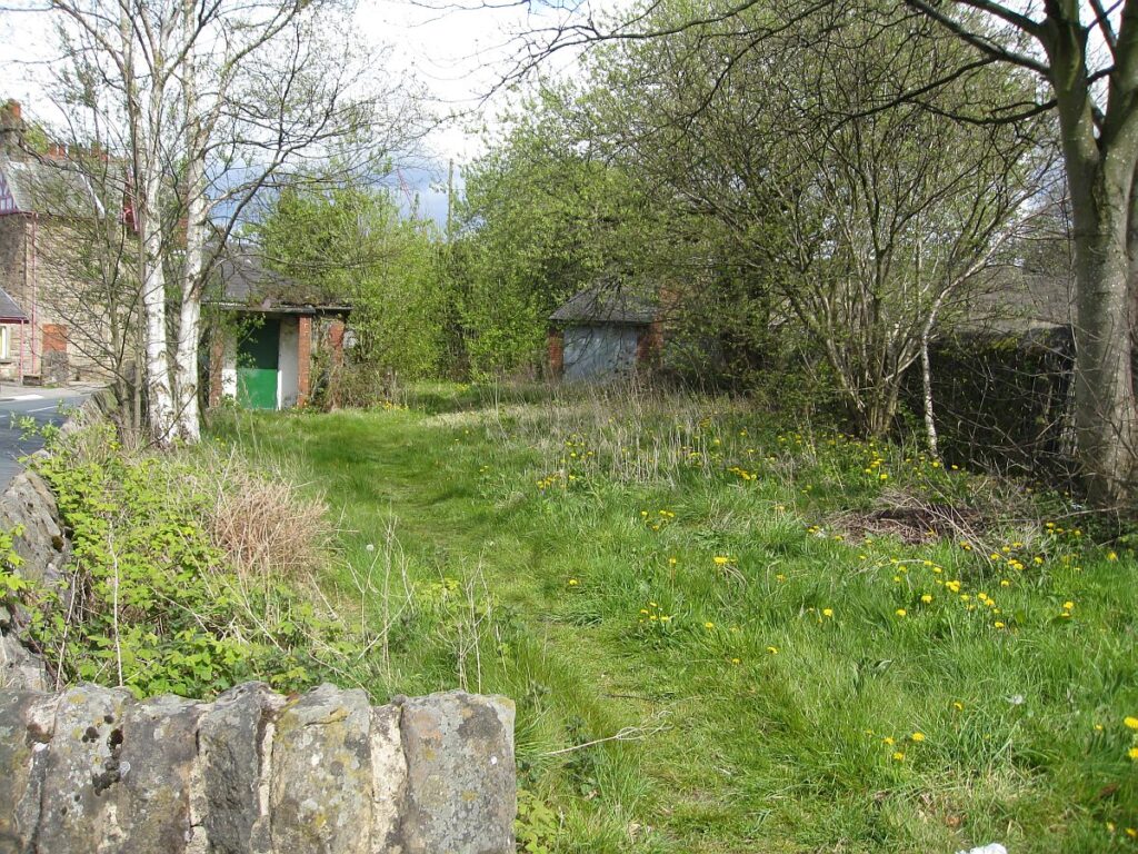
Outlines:
[[209,405],[230,397],[246,409],[305,405],[315,391],[313,362],[323,352],[343,361],[351,306],[302,293],[265,269],[246,247],[226,248],[215,270],[209,338]]

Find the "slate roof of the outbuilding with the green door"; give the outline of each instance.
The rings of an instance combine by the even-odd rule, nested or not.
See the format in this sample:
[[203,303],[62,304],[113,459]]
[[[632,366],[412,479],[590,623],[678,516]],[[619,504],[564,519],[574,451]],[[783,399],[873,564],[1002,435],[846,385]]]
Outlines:
[[220,288],[208,302],[231,311],[277,314],[347,314],[352,306],[306,293],[304,286],[267,269],[254,247],[233,245],[222,251],[214,269]]

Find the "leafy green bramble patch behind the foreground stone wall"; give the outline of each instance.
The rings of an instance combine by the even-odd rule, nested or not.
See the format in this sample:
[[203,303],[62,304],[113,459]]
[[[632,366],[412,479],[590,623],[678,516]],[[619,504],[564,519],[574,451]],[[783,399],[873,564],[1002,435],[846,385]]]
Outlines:
[[140,697],[211,697],[249,679],[302,690],[321,681],[322,658],[354,648],[299,586],[233,568],[201,522],[222,476],[195,457],[124,452],[105,424],[49,450],[35,467],[73,558],[60,588],[39,591],[32,634],[60,683]]

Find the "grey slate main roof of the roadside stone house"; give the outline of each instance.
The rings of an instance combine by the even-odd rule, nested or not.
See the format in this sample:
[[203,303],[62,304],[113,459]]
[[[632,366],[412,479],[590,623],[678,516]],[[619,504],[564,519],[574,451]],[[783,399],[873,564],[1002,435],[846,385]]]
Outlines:
[[68,161],[0,157],[0,214],[85,217],[104,211],[86,175]]

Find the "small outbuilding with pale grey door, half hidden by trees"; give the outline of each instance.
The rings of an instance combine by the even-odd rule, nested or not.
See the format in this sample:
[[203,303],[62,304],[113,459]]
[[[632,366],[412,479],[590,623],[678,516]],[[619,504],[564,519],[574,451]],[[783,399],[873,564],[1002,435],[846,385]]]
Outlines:
[[550,371],[566,380],[629,376],[654,363],[663,345],[657,303],[615,279],[575,295],[550,322]]

